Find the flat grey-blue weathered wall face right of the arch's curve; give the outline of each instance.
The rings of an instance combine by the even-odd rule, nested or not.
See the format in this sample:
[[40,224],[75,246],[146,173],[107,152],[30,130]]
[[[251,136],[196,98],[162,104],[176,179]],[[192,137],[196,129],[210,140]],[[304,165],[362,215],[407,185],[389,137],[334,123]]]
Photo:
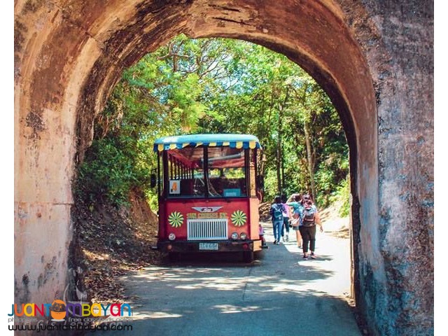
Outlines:
[[366,55],[378,101],[375,248],[386,281],[371,281],[376,269],[362,262],[360,292],[381,335],[432,335],[433,1],[378,1],[367,10],[384,47],[383,55]]

